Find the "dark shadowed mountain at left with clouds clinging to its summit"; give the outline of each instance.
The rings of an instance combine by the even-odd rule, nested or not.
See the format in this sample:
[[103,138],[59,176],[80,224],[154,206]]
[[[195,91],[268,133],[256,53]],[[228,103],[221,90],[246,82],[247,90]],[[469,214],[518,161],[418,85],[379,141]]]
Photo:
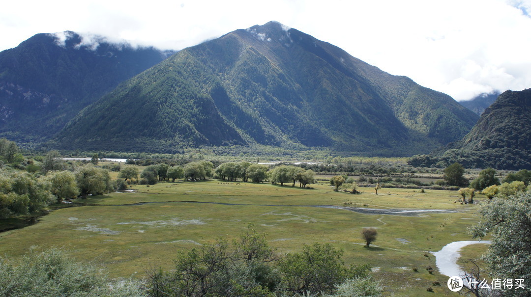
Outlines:
[[49,138],[168,54],[71,31],[37,34],[0,53],[0,135],[19,143]]

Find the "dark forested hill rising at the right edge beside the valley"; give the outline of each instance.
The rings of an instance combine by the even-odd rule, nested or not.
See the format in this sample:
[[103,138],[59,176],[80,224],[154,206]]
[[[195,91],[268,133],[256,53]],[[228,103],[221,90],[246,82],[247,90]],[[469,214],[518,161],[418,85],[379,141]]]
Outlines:
[[[463,139],[433,158],[416,156],[423,165],[459,162],[467,168],[531,169],[531,89],[503,92],[485,109]],[[418,164],[414,164],[418,165]]]

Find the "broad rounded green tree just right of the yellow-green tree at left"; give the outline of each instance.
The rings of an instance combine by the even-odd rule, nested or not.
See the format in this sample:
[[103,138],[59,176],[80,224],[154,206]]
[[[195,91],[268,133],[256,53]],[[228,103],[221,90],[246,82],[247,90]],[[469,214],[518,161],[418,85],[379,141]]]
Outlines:
[[88,194],[101,195],[113,190],[109,171],[95,167],[92,164],[76,169],[75,179],[78,183],[80,194],[83,196]]

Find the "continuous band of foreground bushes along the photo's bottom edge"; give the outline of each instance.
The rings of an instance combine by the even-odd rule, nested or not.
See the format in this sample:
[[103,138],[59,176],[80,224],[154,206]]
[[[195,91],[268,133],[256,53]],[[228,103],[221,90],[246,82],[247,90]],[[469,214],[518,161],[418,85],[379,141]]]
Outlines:
[[238,238],[182,251],[172,269],[147,269],[141,281],[110,281],[63,250],[30,250],[20,260],[0,258],[3,296],[374,296],[383,293],[368,265],[345,265],[330,243],[305,244],[278,254],[251,226]]

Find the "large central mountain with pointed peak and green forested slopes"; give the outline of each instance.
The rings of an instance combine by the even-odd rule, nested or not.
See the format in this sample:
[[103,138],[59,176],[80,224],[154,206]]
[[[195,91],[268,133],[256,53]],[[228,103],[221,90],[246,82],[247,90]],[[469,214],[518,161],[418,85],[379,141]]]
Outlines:
[[85,108],[50,145],[175,152],[261,144],[403,156],[456,141],[476,120],[446,94],[269,22],[179,51]]

